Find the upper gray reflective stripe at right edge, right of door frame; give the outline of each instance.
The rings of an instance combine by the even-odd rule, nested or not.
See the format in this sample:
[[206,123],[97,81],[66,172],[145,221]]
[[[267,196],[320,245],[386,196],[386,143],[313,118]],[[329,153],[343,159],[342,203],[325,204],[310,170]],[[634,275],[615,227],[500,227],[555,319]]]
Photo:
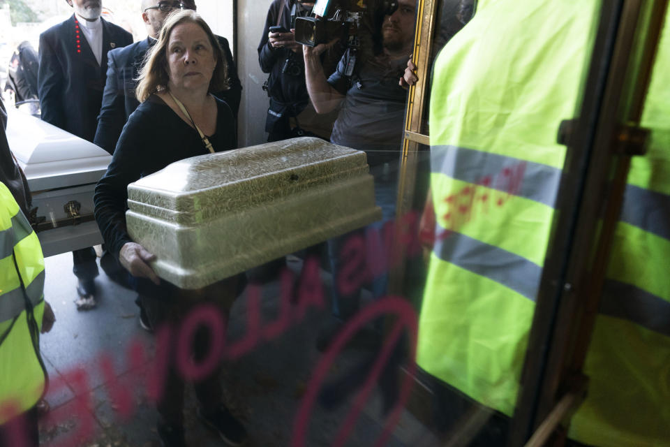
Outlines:
[[621,220],[670,240],[670,196],[628,184]]

